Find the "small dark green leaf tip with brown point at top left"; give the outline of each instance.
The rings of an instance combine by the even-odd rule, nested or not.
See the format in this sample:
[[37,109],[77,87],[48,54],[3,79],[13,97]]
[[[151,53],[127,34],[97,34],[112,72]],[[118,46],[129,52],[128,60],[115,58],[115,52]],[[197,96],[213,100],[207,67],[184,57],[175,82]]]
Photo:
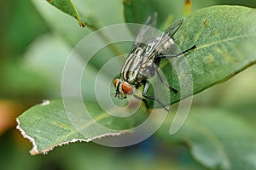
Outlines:
[[56,8],[61,9],[64,13],[67,13],[73,16],[76,20],[79,21],[79,26],[84,27],[84,23],[80,19],[78,10],[75,8],[72,0],[47,0],[48,3],[52,4]]

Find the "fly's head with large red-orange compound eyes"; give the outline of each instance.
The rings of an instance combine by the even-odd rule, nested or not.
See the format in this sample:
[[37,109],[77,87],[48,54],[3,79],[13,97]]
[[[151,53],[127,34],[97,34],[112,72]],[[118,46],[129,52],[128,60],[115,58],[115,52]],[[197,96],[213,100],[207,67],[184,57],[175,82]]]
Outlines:
[[119,99],[125,99],[127,95],[134,93],[134,88],[132,88],[131,84],[125,82],[121,78],[114,79],[113,85],[116,90],[115,97],[118,97]]

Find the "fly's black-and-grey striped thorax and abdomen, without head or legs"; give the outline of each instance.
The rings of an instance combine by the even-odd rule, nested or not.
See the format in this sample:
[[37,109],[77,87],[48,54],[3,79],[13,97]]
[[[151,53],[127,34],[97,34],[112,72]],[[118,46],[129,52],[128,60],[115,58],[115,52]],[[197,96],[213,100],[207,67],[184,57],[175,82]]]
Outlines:
[[174,41],[167,38],[165,43],[161,43],[160,37],[149,41],[147,44],[139,44],[125,60],[121,70],[121,77],[131,84],[137,85],[147,77],[154,76],[154,60],[159,54],[166,54],[172,48]]

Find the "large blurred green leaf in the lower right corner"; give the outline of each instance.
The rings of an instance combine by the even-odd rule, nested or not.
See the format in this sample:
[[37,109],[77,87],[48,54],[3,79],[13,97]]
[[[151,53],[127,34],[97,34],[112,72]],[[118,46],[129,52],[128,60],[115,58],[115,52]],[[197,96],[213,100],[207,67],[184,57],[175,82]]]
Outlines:
[[256,168],[256,134],[241,118],[227,111],[195,109],[183,127],[168,136],[170,118],[158,135],[168,143],[188,145],[191,155],[202,165],[211,169]]

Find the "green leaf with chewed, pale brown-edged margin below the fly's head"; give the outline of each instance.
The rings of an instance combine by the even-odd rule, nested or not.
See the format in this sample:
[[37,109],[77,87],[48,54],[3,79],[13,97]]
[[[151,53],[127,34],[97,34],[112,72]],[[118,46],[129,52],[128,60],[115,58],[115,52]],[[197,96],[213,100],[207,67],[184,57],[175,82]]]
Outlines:
[[[147,117],[143,110],[137,111],[127,119],[110,116],[102,111],[99,105],[90,101],[86,102],[86,108],[91,113],[91,119],[85,120],[84,124],[83,121],[81,122],[84,112],[67,110],[62,100],[46,100],[19,116],[17,128],[32,142],[31,154],[36,155],[46,153],[62,144],[76,141],[90,142],[102,137],[131,133],[130,128]],[[75,125],[79,122],[74,120],[81,122],[79,126]]]

